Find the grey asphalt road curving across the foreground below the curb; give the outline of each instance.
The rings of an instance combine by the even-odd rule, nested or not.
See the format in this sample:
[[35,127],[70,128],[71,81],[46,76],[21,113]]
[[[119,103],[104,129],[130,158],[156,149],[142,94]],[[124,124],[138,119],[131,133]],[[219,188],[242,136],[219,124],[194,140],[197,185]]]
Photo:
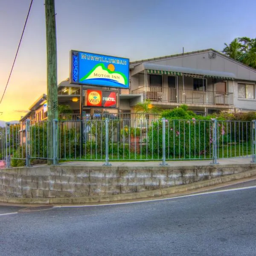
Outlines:
[[255,256],[255,198],[250,188],[0,214],[0,255]]

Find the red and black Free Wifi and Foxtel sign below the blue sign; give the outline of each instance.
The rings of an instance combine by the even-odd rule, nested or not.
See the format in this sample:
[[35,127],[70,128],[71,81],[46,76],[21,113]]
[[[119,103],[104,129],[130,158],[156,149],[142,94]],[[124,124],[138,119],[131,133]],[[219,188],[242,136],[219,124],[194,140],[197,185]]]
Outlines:
[[91,107],[116,108],[116,93],[101,90],[87,90],[85,103]]

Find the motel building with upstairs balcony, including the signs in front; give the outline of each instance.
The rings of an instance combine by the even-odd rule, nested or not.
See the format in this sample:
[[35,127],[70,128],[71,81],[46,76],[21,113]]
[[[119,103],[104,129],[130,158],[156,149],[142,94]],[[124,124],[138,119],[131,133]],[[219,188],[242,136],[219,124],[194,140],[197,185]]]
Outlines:
[[[134,106],[148,99],[163,109],[186,104],[203,115],[256,111],[256,70],[213,49],[129,62],[126,58],[70,51],[69,79],[58,84],[58,104],[73,113],[60,119],[134,119]],[[47,96],[20,119],[47,120]]]

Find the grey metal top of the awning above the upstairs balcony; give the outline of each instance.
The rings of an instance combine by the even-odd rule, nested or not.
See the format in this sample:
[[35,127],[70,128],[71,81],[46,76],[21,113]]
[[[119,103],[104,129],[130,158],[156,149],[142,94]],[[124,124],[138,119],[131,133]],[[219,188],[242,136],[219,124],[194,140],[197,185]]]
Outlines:
[[[233,73],[227,72],[219,72],[219,71],[212,71],[212,70],[199,70],[189,67],[175,67],[175,66],[165,66],[165,65],[157,65],[152,63],[143,63],[142,64],[145,70],[158,70],[158,71],[167,71],[173,73],[182,73],[182,74],[195,74],[195,75],[202,75],[202,76],[212,76],[212,77],[220,77],[220,78],[227,78],[227,79],[235,79],[236,76]],[[154,72],[151,72],[154,73]]]

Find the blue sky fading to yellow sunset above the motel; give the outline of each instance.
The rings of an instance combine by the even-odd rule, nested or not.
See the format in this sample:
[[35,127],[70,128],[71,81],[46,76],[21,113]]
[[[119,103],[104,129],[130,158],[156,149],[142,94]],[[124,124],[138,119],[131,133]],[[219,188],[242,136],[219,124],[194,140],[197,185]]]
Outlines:
[[[30,0],[0,0],[0,97]],[[255,0],[55,0],[58,83],[71,49],[130,61],[213,48],[256,37]],[[47,92],[44,0],[34,0],[5,96],[1,120],[19,120]]]

